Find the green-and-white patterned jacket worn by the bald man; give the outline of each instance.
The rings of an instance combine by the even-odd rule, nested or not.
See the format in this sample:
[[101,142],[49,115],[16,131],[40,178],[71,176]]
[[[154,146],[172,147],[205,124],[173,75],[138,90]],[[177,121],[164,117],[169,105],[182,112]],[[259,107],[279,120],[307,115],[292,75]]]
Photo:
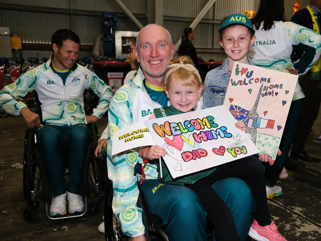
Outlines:
[[[148,120],[153,109],[160,104],[153,102],[143,86],[143,72],[137,71],[134,79],[129,80],[114,94],[108,111],[107,168],[108,177],[113,182],[113,211],[120,221],[126,235],[137,237],[145,233],[142,222],[142,209],[136,206],[139,190],[135,167],[143,160],[138,155],[138,148],[127,150],[112,156],[113,133],[127,125]],[[199,101],[197,109],[201,108]],[[146,179],[157,179],[157,166],[146,163]],[[139,174],[137,174],[140,176]]]

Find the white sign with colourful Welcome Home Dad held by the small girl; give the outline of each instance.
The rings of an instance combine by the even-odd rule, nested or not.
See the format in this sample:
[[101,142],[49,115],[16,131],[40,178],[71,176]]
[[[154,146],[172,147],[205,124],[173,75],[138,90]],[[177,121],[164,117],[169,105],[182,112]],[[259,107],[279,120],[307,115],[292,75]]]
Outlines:
[[145,121],[173,178],[257,153],[235,122],[225,106]]

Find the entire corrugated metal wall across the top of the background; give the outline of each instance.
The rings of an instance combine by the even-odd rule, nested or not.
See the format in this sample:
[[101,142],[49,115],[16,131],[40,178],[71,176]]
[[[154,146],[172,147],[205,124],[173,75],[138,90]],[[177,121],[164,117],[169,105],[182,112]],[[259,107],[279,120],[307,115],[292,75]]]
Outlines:
[[[136,14],[147,14],[148,0],[122,0],[127,8]],[[181,37],[184,28],[194,20],[208,0],[163,0],[164,17],[174,17],[177,20],[164,20],[163,26],[169,30],[173,42]],[[307,2],[308,0],[301,0]],[[199,23],[195,28],[196,48],[219,49],[217,43],[219,23],[221,19],[231,13],[244,13],[244,10],[258,9],[260,0],[216,0],[203,20],[211,23]],[[296,0],[284,0],[287,20],[293,14],[293,5]],[[119,12],[113,0],[0,0],[5,4],[20,4],[39,7],[54,7],[73,10],[90,10],[99,12]],[[301,3],[300,8],[302,8]],[[147,18],[138,19],[143,25]],[[101,31],[101,17],[88,15],[70,15],[56,13],[39,13],[0,9],[0,26],[9,27],[12,34],[22,37],[25,43],[49,43],[51,34],[59,28],[70,28],[75,31],[82,44],[93,44],[96,33]],[[126,17],[118,18],[120,31],[138,31],[138,28]]]

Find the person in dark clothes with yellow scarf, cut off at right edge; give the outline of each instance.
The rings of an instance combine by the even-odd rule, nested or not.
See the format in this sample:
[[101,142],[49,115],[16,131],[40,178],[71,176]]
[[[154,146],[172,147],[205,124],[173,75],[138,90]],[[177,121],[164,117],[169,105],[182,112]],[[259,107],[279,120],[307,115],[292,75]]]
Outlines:
[[[298,12],[296,12],[291,22],[300,24],[308,29],[312,29],[317,33],[321,32],[321,0],[311,0],[310,4]],[[297,49],[293,49],[291,58],[296,61],[301,52]],[[320,162],[320,156],[318,158],[309,156],[304,151],[304,143],[308,137],[308,131],[313,126],[314,121],[317,119],[320,103],[321,103],[321,60],[317,60],[316,64],[311,70],[304,76],[299,77],[302,91],[305,95],[304,106],[302,109],[302,115],[299,122],[299,128],[297,129],[296,136],[293,140],[293,146],[291,150],[291,160],[294,162],[297,158],[307,162]]]

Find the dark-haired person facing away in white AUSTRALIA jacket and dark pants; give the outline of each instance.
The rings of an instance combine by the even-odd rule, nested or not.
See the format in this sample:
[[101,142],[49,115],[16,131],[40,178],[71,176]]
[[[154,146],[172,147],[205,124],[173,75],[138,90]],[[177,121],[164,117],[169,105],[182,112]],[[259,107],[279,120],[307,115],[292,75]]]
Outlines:
[[[312,26],[312,22],[317,21],[316,14],[310,5],[308,5],[305,10],[308,13],[308,16],[311,14],[311,16],[309,16],[310,18],[302,18],[302,20],[300,19],[299,21],[309,20]],[[309,14],[310,11],[311,13]],[[295,16],[296,14],[293,15],[292,18],[295,19]],[[291,20],[293,21],[293,19]],[[300,128],[298,128],[296,133],[300,122],[304,97],[300,85],[303,84],[302,88],[304,89],[304,92],[307,93],[306,90],[309,88],[312,89],[313,86],[317,89],[319,85],[317,83],[320,83],[321,77],[321,60],[319,57],[321,53],[321,38],[320,34],[316,32],[317,30],[320,32],[320,29],[317,28],[317,30],[314,29],[314,31],[294,22],[295,21],[286,22],[284,20],[283,0],[261,0],[258,12],[252,19],[254,28],[257,30],[257,39],[250,52],[251,58],[257,66],[298,76],[306,74],[311,69],[304,78],[300,78],[300,84],[299,81],[297,81],[282,139],[280,141],[282,155],[275,159],[275,164],[273,166],[267,166],[265,169],[266,194],[269,198],[282,194],[282,188],[276,186],[275,183],[280,173],[280,179],[282,176],[283,179],[287,178],[284,165],[288,159],[292,140],[294,141],[291,150],[291,159],[293,158],[295,160],[303,150],[303,143],[308,135],[308,130],[313,124],[313,121],[309,121],[309,118],[313,116],[313,108],[310,104],[307,104],[307,101],[311,99],[309,99],[309,96],[306,96],[306,98],[304,98],[305,106],[310,105],[310,107],[303,109],[308,111],[302,113]],[[316,24],[313,24],[313,26],[318,27],[319,23],[315,23]],[[263,40],[266,42],[271,41],[272,44],[259,45],[258,41],[263,42]],[[306,87],[306,83],[308,83],[308,88]],[[313,103],[315,107],[314,111],[318,112],[320,102],[319,105],[315,105],[317,99],[314,98]],[[315,115],[315,118],[316,117],[317,114]],[[320,162],[320,159],[308,156],[307,153],[304,153],[302,156],[305,156],[305,159],[303,159],[305,161]]]

